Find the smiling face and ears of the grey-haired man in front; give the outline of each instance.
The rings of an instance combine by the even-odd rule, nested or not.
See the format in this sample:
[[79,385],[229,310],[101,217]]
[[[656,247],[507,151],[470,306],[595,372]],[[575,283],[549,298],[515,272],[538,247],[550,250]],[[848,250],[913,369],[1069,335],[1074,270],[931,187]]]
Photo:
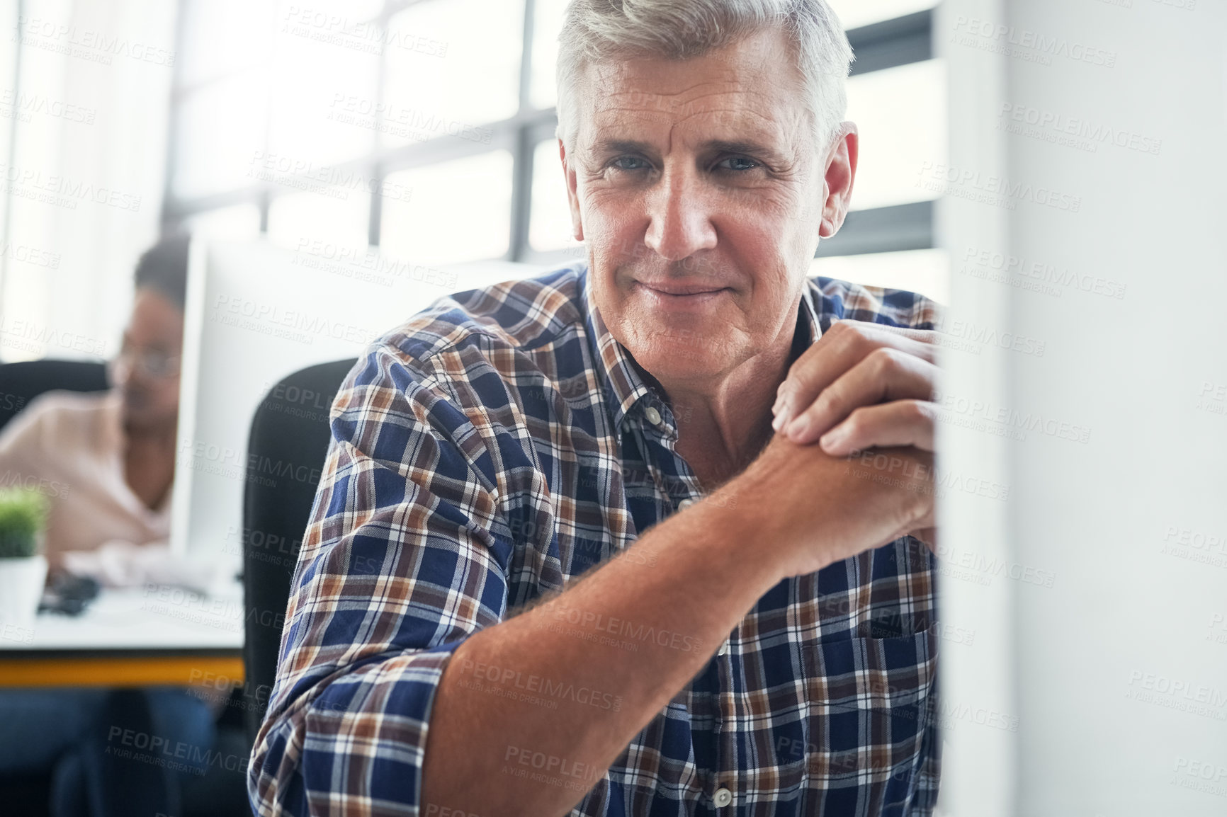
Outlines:
[[610,331],[663,382],[701,389],[791,342],[856,151],[854,129],[815,144],[801,90],[778,31],[686,61],[590,65],[577,88],[574,155],[560,144],[575,238]]

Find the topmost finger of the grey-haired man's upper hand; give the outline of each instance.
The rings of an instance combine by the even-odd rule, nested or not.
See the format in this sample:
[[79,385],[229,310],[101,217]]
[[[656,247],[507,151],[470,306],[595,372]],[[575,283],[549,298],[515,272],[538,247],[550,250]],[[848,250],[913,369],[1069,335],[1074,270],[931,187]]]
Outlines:
[[860,320],[840,320],[822,334],[816,343],[793,363],[777,390],[773,427],[783,428],[812,404],[844,372],[881,347],[907,352],[930,363],[936,362],[933,341],[936,332],[899,329]]

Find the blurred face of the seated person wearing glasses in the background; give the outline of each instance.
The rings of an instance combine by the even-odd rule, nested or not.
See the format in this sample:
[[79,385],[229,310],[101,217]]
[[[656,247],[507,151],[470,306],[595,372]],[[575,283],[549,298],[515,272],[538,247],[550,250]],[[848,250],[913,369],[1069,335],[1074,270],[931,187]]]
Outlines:
[[115,368],[126,426],[148,428],[175,421],[182,351],[183,312],[160,292],[139,288]]

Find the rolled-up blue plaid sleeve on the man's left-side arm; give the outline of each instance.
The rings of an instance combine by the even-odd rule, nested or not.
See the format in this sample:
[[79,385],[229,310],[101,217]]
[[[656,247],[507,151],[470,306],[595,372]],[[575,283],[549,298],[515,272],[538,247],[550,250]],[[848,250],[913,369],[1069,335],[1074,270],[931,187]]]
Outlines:
[[248,768],[258,815],[418,813],[443,670],[506,613],[508,529],[475,410],[461,408],[477,401],[444,380],[377,343],[333,404]]

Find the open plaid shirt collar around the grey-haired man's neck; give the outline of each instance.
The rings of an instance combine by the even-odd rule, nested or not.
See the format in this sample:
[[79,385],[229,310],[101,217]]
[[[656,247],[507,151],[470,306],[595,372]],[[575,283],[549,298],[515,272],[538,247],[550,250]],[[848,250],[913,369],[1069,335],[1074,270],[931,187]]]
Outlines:
[[[660,429],[666,437],[676,434],[672,411],[655,388],[648,385],[639,373],[639,366],[631,357],[631,353],[622,343],[614,339],[600,310],[596,308],[596,298],[591,287],[591,275],[587,261],[583,263],[583,271],[579,275],[580,303],[584,313],[584,324],[588,328],[588,340],[593,355],[596,359],[596,379],[601,393],[606,396],[606,402],[614,410],[614,426],[621,429],[622,423],[636,412],[644,412],[649,407],[660,412]],[[818,312],[814,303],[814,287],[809,280],[801,287],[801,304],[798,308],[798,321],[802,316],[809,326],[807,347],[822,336],[818,323]]]

